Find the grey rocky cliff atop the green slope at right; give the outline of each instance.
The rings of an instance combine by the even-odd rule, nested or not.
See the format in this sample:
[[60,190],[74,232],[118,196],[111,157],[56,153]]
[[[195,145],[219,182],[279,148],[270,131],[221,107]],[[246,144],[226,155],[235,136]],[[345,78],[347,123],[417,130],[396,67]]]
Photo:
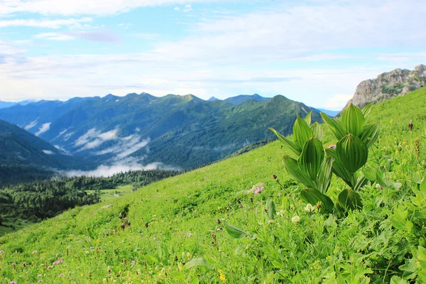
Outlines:
[[403,96],[426,84],[426,66],[418,65],[413,71],[395,69],[378,75],[376,79],[361,82],[349,103],[364,107],[371,102],[382,102],[393,97]]

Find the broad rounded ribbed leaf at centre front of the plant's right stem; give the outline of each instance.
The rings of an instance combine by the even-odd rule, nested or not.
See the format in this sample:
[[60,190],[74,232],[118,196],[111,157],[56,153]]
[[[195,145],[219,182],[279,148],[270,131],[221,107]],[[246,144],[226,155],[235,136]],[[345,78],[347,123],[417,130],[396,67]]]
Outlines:
[[355,173],[368,158],[368,148],[360,138],[349,133],[336,145],[337,158],[349,173]]

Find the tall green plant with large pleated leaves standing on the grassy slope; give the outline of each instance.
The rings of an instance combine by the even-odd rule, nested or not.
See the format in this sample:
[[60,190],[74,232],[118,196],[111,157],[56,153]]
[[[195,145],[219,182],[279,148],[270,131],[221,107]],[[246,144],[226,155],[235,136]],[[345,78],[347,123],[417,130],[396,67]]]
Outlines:
[[323,132],[320,124],[311,125],[312,111],[305,119],[297,116],[293,125],[293,141],[271,129],[285,146],[288,146],[297,159],[284,156],[285,169],[297,182],[305,185],[301,197],[305,202],[317,204],[320,212],[328,213],[334,209],[334,202],[327,196],[332,173],[342,178],[349,189],[340,192],[336,204],[339,211],[362,207],[359,190],[366,185],[364,175],[357,171],[365,165],[368,147],[378,138],[378,124],[366,124],[371,104],[359,109],[349,104],[341,119],[334,119],[321,113],[338,142],[335,147],[324,150]]

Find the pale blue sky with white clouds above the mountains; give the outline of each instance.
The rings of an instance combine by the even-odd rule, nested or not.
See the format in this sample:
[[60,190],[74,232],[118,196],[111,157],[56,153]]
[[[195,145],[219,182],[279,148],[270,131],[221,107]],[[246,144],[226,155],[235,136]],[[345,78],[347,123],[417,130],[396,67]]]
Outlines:
[[0,0],[0,100],[283,94],[340,110],[426,62],[426,1]]

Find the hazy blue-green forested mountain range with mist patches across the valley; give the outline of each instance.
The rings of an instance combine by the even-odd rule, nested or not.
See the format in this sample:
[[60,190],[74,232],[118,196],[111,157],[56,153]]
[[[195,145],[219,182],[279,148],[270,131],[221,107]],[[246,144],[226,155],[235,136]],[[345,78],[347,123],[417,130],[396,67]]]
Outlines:
[[[54,146],[41,146],[38,155],[51,151],[60,160],[87,159],[92,166],[140,163],[189,169],[274,139],[268,127],[290,134],[295,115],[310,111],[319,121],[319,111],[281,95],[204,101],[192,94],[133,93],[16,104],[0,109],[0,119]],[[63,168],[54,161],[45,165]],[[80,168],[77,160],[71,165],[65,168]]]

